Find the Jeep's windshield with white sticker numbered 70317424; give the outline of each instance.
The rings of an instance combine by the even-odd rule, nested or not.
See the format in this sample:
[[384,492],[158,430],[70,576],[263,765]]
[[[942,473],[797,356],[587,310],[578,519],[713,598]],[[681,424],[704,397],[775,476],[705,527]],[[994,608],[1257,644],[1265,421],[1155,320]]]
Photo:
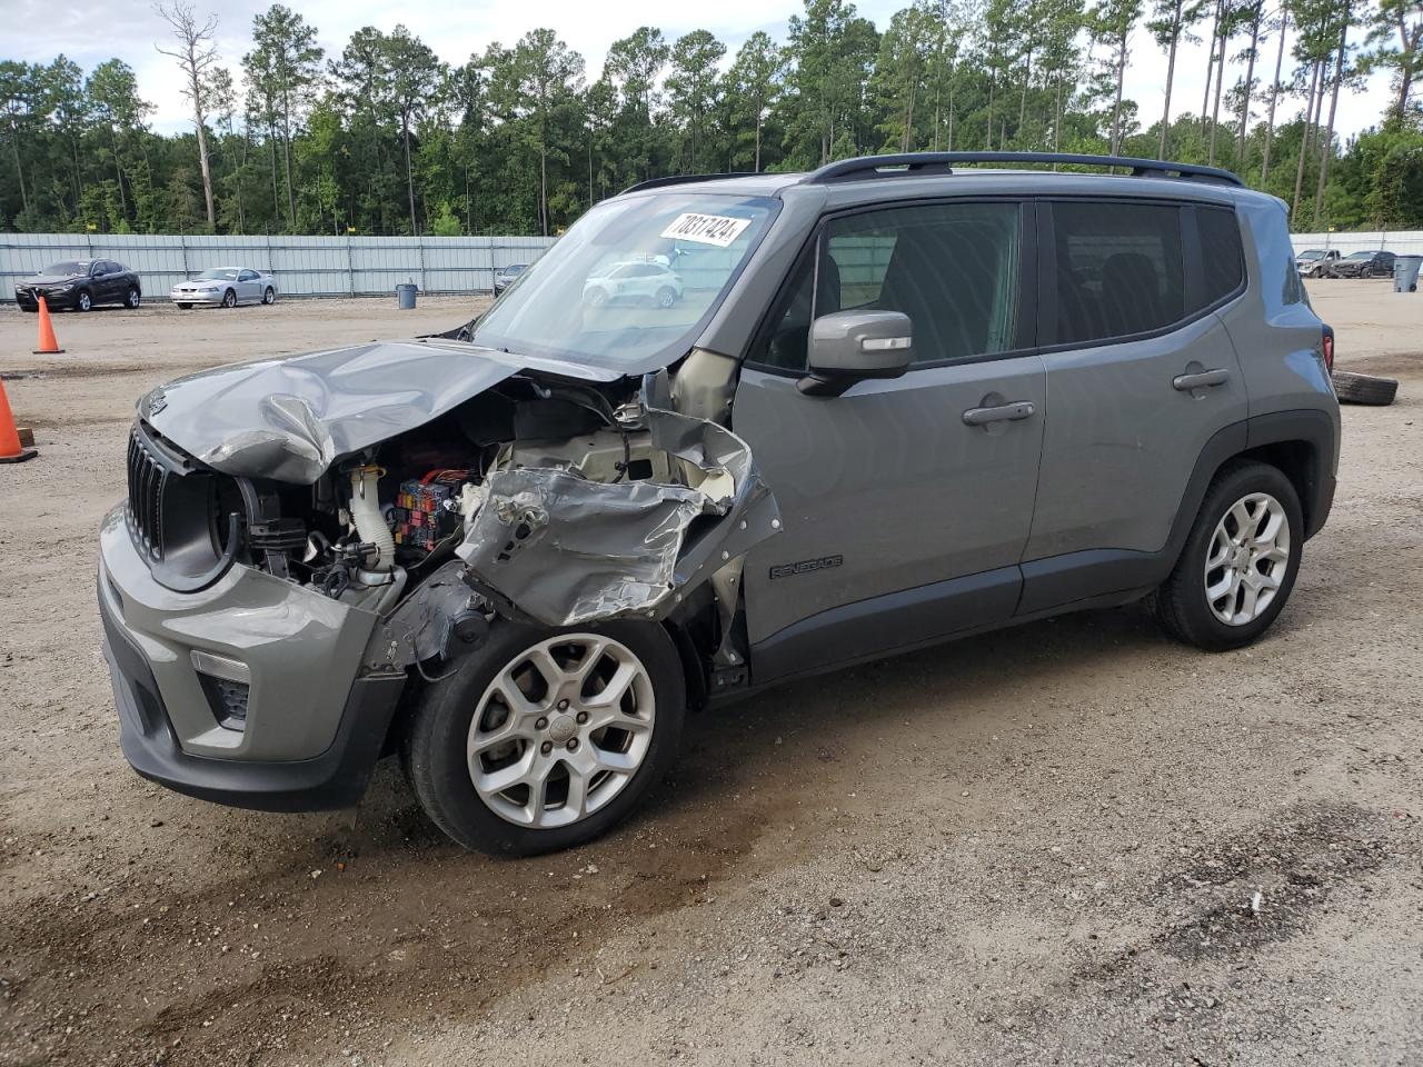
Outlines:
[[692,346],[777,206],[675,192],[601,203],[504,290],[470,340],[610,370],[670,363]]

